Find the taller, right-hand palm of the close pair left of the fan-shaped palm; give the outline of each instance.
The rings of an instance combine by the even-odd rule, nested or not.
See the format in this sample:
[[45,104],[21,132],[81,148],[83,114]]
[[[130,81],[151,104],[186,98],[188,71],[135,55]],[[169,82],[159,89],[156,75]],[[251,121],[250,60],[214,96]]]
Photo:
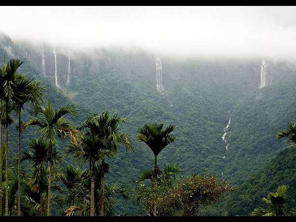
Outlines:
[[[101,158],[101,216],[104,216],[104,174],[108,172],[109,165],[105,162],[105,155],[109,158],[114,158],[119,150],[119,144],[123,144],[126,149],[133,152],[133,145],[130,142],[128,135],[121,131],[119,124],[126,123],[128,118],[117,117],[117,113],[110,116],[109,111],[103,111],[101,115],[97,111],[89,113],[86,120],[81,124],[81,130],[86,130],[85,134],[94,138],[105,141],[104,146],[98,147],[103,156]],[[105,152],[103,150],[108,150]],[[105,169],[105,170],[104,170]]]

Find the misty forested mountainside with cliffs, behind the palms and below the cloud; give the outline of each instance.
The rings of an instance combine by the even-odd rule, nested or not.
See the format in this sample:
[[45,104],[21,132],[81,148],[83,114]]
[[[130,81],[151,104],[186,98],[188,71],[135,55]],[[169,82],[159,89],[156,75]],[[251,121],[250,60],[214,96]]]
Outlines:
[[[291,185],[289,204],[295,207],[296,192],[292,187],[295,165],[290,164],[291,158],[295,159],[294,151],[284,149],[285,141],[276,139],[276,133],[286,129],[288,121],[296,121],[293,64],[267,58],[272,82],[260,88],[261,58],[252,61],[160,58],[164,89],[161,94],[156,86],[157,57],[140,49],[134,52],[97,49],[87,53],[50,47],[43,45],[41,52],[40,46],[15,43],[3,36],[0,61],[3,55],[5,60],[14,57],[23,60],[20,72],[46,84],[46,96],[54,107],[74,104],[79,109],[78,117],[69,116],[76,126],[89,111],[108,110],[129,118],[123,129],[130,135],[135,152],[130,154],[121,148],[116,158],[109,161],[106,183],[131,187],[144,169],[153,167],[153,153],[136,137],[139,127],[158,122],[175,125],[177,137],[176,143],[159,154],[161,169],[174,162],[182,167],[184,176],[207,170],[237,188],[221,205],[203,209],[205,214],[250,215],[261,205],[263,196],[285,183]],[[23,116],[30,118],[28,113]],[[11,138],[17,138],[15,126],[10,128]],[[24,150],[36,137],[35,130],[30,127],[23,132]],[[64,150],[64,144],[59,143],[60,150]],[[11,140],[11,148],[11,153],[16,154],[16,140]],[[11,161],[13,157],[11,154]],[[279,163],[281,159],[283,162]],[[75,164],[68,157],[62,166]],[[275,172],[274,177],[267,180],[270,172]],[[247,207],[241,209],[238,206],[243,202]],[[125,202],[120,198],[114,212],[135,214],[140,210],[131,200]]]

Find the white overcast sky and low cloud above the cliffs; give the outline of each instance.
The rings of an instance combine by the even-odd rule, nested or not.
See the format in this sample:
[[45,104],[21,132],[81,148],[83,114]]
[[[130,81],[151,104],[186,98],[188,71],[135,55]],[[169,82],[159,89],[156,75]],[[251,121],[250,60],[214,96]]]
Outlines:
[[295,6],[0,6],[0,32],[72,48],[296,59]]

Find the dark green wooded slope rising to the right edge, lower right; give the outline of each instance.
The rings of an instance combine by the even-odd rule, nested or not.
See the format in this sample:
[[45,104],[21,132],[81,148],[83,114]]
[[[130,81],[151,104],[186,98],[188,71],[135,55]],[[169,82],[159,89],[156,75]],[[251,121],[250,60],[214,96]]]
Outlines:
[[[215,206],[218,212],[212,212],[212,215],[224,213],[227,216],[250,216],[256,207],[262,206],[262,198],[277,189],[279,184],[289,185],[291,192],[287,198],[287,206],[296,211],[295,148],[280,151],[257,173],[250,175],[241,185],[236,185],[235,191],[222,200],[220,205]],[[265,202],[262,207],[267,207]]]

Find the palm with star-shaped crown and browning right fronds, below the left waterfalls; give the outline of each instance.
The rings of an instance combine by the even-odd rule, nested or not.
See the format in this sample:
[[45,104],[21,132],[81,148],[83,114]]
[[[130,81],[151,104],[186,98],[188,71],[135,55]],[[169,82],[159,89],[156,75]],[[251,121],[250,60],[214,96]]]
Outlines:
[[48,159],[49,159],[49,180],[48,180],[48,201],[47,201],[47,216],[50,213],[50,186],[51,186],[51,170],[53,167],[52,151],[55,144],[55,137],[62,140],[70,136],[73,143],[76,143],[75,135],[77,134],[77,129],[71,125],[64,115],[72,114],[77,116],[77,109],[72,106],[62,106],[60,109],[55,111],[50,100],[47,102],[46,107],[36,107],[34,113],[39,115],[39,119],[31,119],[25,124],[25,128],[30,125],[38,126],[37,132],[41,133],[42,138],[48,140]]

